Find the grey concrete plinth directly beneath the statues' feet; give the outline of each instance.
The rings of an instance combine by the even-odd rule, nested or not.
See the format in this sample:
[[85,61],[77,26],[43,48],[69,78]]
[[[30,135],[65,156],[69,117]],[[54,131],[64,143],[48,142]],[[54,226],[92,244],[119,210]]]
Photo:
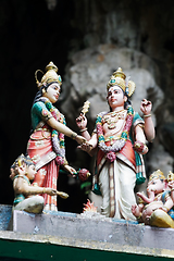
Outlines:
[[[174,229],[120,223],[112,219],[95,220],[53,214],[28,214],[22,211],[13,213],[13,232],[50,237],[73,238],[73,240],[92,240],[99,244],[174,250]],[[160,250],[160,251],[161,251]]]

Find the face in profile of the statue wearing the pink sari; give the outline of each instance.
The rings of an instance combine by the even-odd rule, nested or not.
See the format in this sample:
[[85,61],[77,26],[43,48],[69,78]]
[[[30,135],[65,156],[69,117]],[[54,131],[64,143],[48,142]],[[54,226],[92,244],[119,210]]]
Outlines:
[[48,98],[52,103],[55,103],[59,99],[60,90],[61,90],[60,85],[53,83],[47,88],[47,91],[42,96]]

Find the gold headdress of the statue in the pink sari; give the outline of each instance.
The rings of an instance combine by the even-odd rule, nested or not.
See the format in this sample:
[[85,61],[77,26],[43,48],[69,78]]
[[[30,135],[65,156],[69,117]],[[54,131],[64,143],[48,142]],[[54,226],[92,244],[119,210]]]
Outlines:
[[58,83],[60,86],[62,85],[62,78],[60,75],[57,74],[58,67],[53,64],[53,62],[50,62],[46,66],[46,74],[44,74],[40,82],[37,78],[38,72],[41,72],[44,74],[41,70],[37,70],[35,72],[35,78],[36,78],[36,84],[38,88],[40,88],[41,86],[48,87],[51,83]]

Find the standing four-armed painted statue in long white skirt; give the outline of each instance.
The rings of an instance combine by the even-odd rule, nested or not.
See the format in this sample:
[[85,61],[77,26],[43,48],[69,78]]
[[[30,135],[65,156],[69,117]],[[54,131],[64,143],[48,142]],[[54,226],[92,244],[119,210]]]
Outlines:
[[148,152],[146,140],[154,138],[151,102],[144,100],[141,103],[144,121],[129,101],[135,83],[126,80],[121,67],[111,76],[107,90],[110,111],[97,115],[91,137],[86,127],[87,119],[83,114],[76,119],[79,132],[88,140],[79,148],[90,156],[97,150],[92,191],[102,196],[101,213],[135,220],[132,213],[132,206],[136,203],[134,187],[146,179],[142,154]]

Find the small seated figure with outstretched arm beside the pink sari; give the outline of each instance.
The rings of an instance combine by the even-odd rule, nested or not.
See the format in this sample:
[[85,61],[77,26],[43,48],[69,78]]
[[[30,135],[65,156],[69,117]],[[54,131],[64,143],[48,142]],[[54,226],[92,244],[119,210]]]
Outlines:
[[21,154],[12,164],[10,178],[13,181],[15,195],[13,210],[23,210],[35,214],[41,213],[45,200],[38,194],[69,197],[69,195],[59,192],[52,188],[32,186],[30,182],[35,178],[35,174],[36,166],[29,157]]

